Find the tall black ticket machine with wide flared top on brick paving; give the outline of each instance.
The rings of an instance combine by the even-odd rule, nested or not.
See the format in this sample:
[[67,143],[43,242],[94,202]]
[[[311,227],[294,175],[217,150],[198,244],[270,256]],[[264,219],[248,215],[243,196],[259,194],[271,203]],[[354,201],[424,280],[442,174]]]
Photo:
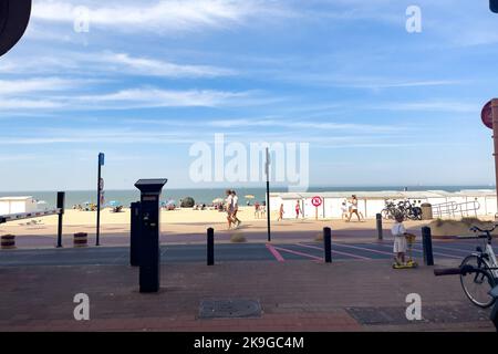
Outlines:
[[139,285],[141,292],[159,291],[159,198],[167,179],[141,179],[139,207]]

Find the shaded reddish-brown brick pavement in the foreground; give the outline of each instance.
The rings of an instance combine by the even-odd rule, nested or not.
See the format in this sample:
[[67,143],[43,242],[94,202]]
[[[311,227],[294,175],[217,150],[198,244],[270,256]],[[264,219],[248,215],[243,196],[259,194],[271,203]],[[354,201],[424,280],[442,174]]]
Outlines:
[[[125,266],[12,267],[0,268],[0,331],[494,331],[458,278],[386,260],[164,264],[157,294],[138,293],[138,270]],[[77,322],[82,292],[91,320]],[[423,321],[406,320],[408,293],[422,296]],[[220,299],[257,300],[262,314],[198,317],[203,300]]]

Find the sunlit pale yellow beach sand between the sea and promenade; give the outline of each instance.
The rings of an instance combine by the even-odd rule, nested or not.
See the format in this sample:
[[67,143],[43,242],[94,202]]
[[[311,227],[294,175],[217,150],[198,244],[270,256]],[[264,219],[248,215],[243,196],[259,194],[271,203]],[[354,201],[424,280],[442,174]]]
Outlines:
[[[242,220],[240,232],[266,232],[267,219],[255,217],[252,207],[241,207],[238,214]],[[351,222],[343,220],[314,220],[314,219],[284,219],[277,221],[278,214],[271,214],[271,227],[274,232],[292,233],[292,232],[315,232],[322,231],[324,227],[332,227],[338,230],[371,230],[375,231],[375,220],[369,219],[357,222],[354,219]],[[38,223],[28,223],[33,220]],[[111,209],[104,209],[101,212],[101,233],[105,235],[123,235],[129,233],[131,210],[124,209],[122,212],[111,212]],[[28,223],[28,225],[27,225]],[[384,232],[390,229],[393,221],[384,220]],[[63,233],[72,235],[75,232],[95,233],[96,212],[66,210],[63,218]],[[162,210],[160,212],[160,230],[163,233],[174,235],[200,235],[206,229],[212,227],[216,232],[234,232],[227,231],[226,214],[216,210],[193,210],[177,209],[172,211]],[[406,221],[408,228],[419,229],[426,225],[423,221]],[[35,235],[56,235],[58,216],[44,218],[34,218],[27,220],[11,221],[0,225],[0,235],[12,233],[15,236],[35,236]]]

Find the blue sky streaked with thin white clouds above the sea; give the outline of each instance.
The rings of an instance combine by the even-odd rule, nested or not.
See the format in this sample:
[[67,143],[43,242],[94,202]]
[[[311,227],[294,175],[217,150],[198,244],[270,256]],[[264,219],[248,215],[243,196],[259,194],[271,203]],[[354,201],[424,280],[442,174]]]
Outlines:
[[93,188],[98,152],[108,189],[208,187],[188,150],[215,133],[309,143],[312,185],[494,183],[486,0],[33,2],[0,59],[2,190]]

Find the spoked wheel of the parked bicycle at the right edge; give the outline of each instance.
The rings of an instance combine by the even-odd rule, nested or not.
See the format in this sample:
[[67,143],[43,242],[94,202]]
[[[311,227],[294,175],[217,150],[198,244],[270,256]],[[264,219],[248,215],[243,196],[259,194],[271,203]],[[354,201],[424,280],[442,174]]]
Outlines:
[[461,288],[467,298],[477,306],[486,309],[495,303],[495,299],[489,295],[489,291],[495,288],[495,278],[488,266],[480,257],[468,256],[461,266],[471,266],[474,272],[460,274]]

